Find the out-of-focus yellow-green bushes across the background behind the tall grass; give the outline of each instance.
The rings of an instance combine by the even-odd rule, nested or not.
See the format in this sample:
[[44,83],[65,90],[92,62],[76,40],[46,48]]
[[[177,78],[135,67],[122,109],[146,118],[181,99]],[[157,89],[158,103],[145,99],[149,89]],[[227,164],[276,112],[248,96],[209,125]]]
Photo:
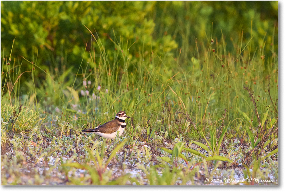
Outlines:
[[96,30],[110,61],[115,46],[109,37],[123,41],[125,48],[134,43],[128,50],[133,63],[152,51],[177,57],[181,48],[181,65],[187,65],[195,42],[203,48],[211,40],[211,22],[213,39],[220,41],[222,30],[232,53],[242,30],[244,42],[251,38],[251,20],[252,46],[266,42],[278,53],[278,1],[1,1],[1,57],[10,54],[16,38],[12,58],[35,61],[39,48],[37,63],[43,69],[66,65],[77,70],[90,49],[99,53],[90,45],[86,25],[94,34]]

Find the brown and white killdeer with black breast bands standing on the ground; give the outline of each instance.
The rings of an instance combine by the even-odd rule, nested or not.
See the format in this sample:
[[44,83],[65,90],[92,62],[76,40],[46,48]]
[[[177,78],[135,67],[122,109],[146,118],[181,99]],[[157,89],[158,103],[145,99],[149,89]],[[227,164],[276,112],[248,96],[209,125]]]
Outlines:
[[107,139],[115,139],[118,131],[119,136],[122,135],[126,127],[125,119],[127,118],[131,117],[127,116],[126,112],[120,111],[112,121],[99,125],[95,129],[84,129],[80,133],[95,133]]

